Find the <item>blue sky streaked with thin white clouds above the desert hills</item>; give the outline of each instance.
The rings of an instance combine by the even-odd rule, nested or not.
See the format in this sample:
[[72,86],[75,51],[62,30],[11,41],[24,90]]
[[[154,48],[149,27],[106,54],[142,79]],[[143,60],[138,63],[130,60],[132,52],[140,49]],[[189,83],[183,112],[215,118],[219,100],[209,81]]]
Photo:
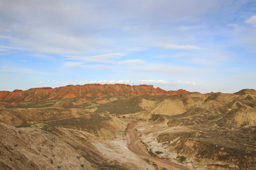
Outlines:
[[256,89],[255,0],[0,0],[0,91]]

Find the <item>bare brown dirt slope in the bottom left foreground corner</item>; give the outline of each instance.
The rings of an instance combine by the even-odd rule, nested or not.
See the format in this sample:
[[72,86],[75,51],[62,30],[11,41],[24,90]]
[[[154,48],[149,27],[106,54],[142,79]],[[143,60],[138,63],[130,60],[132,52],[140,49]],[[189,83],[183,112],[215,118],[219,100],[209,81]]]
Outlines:
[[0,129],[0,169],[96,169],[75,148],[49,132],[16,129],[4,123]]

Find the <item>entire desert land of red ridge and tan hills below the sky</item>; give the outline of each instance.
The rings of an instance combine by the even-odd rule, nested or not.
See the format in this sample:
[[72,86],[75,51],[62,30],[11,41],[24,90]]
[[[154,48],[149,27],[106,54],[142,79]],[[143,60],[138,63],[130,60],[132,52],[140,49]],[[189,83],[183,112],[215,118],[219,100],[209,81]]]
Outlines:
[[0,169],[255,169],[256,91],[0,91]]

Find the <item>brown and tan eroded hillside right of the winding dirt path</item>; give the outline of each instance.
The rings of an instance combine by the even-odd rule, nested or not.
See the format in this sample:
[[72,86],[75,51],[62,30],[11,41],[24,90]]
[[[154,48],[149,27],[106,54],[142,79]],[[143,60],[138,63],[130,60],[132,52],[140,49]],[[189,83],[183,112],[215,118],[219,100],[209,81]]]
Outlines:
[[[177,114],[176,109],[170,108],[169,115],[160,111],[139,129],[147,147],[152,152],[162,152],[162,157],[192,163],[195,169],[253,169],[256,166],[255,90],[198,95],[196,100],[189,95],[171,96],[180,103],[188,101],[187,107],[184,105],[186,111]],[[193,101],[196,101],[194,106]],[[168,104],[175,103],[169,100]]]

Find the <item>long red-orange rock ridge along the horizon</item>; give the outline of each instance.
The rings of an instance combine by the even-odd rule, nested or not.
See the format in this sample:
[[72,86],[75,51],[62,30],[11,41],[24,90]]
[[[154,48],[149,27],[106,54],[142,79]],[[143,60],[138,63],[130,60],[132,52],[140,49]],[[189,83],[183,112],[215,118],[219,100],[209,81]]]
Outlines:
[[165,91],[154,88],[151,85],[130,86],[127,84],[85,84],[85,85],[68,85],[58,88],[33,88],[26,91],[14,90],[0,91],[0,101],[36,101],[47,100],[52,98],[75,98],[90,96],[138,96],[142,94],[149,95],[174,95],[188,93],[185,90]]

